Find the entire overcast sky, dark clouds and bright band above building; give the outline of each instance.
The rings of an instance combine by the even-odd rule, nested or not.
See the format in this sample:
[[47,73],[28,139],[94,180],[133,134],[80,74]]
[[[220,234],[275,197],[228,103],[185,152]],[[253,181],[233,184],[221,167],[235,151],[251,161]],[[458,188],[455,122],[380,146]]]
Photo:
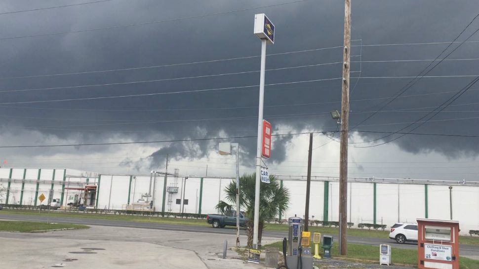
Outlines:
[[[276,134],[329,132],[314,136],[313,175],[337,176],[338,127],[329,111],[340,109],[344,1],[250,9],[288,1],[110,0],[0,14],[0,145],[255,136],[261,42],[253,19],[266,13],[276,26],[266,68],[277,70],[266,72],[264,118]],[[82,2],[5,0],[0,13]],[[433,118],[428,113],[479,75],[479,34],[447,43],[478,15],[479,2],[352,2],[350,129],[478,134],[479,83]],[[132,24],[139,25],[117,27]],[[108,29],[83,31],[98,28]],[[479,18],[456,41],[478,28]],[[53,34],[64,32],[73,33]],[[218,90],[145,96],[204,89]],[[119,98],[127,95],[144,96]],[[99,97],[117,98],[91,99]],[[424,116],[428,122],[407,127]],[[478,180],[478,137],[385,135],[351,133],[351,176]],[[234,159],[217,154],[219,141],[0,148],[0,156],[2,167],[148,173],[164,169],[168,154],[169,170],[203,176],[208,165],[208,175],[233,176]],[[256,138],[228,141],[240,143],[241,172],[252,172]],[[270,173],[305,175],[308,141],[308,134],[276,136]]]

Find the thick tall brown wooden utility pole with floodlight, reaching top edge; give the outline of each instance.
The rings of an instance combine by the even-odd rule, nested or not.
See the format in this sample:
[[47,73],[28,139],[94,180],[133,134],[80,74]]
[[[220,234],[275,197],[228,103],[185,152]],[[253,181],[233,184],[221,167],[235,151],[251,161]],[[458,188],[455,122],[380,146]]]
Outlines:
[[339,157],[339,251],[341,255],[348,254],[346,229],[348,227],[348,120],[350,57],[351,0],[344,0],[343,82],[341,91],[341,148]]

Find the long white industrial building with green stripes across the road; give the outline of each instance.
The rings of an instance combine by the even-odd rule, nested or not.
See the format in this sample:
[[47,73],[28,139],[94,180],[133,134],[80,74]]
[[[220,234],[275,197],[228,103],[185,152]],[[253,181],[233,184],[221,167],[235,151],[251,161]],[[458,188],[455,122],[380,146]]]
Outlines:
[[[0,168],[4,188],[2,204],[46,205],[53,190],[55,201],[66,206],[77,197],[98,209],[125,210],[136,207],[176,213],[215,213],[215,205],[225,199],[224,187],[231,178],[192,177],[168,174],[98,174],[75,169]],[[279,216],[303,217],[306,177],[278,175],[289,189],[290,204]],[[166,190],[164,189],[166,186]],[[149,195],[151,194],[151,195]],[[164,197],[164,207],[163,207]],[[337,177],[312,177],[310,219],[338,221],[339,180]],[[415,222],[416,218],[452,219],[460,222],[461,234],[479,230],[479,182],[349,178],[348,222],[385,224]]]

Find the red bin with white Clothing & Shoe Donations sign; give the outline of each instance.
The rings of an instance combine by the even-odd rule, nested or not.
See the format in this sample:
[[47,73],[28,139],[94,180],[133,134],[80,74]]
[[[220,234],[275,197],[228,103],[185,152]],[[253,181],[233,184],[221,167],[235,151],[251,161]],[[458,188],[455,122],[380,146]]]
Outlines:
[[417,268],[459,269],[459,222],[417,219]]

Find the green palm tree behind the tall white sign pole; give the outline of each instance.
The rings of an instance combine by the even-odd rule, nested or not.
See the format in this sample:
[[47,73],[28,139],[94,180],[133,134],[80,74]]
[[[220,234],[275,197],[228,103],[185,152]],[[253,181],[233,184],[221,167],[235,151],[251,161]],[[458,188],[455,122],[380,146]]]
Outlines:
[[[253,245],[253,219],[254,219],[254,191],[256,173],[244,174],[239,178],[239,206],[244,210],[244,216],[248,219],[245,223],[248,247]],[[280,213],[286,211],[289,203],[289,191],[280,186],[279,180],[270,175],[270,183],[261,182],[259,203],[258,247],[261,246],[261,237],[266,222],[274,220]],[[226,200],[220,201],[216,208],[225,213],[236,208],[236,181],[232,180],[225,187]]]

